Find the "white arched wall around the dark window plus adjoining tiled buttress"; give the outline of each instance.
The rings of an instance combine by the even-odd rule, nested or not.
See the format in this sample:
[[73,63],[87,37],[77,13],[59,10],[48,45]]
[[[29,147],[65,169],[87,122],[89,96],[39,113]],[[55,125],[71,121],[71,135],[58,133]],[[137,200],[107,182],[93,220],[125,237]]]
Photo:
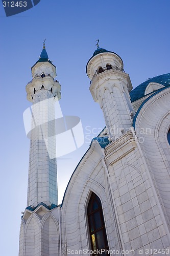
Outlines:
[[127,250],[126,255],[138,255],[138,250],[142,255],[153,255],[151,249],[168,251],[161,205],[133,134],[128,132],[105,148],[106,166],[99,147],[94,142],[68,185],[61,208],[62,242],[69,251],[91,249],[87,205],[93,191],[102,202],[110,250]]

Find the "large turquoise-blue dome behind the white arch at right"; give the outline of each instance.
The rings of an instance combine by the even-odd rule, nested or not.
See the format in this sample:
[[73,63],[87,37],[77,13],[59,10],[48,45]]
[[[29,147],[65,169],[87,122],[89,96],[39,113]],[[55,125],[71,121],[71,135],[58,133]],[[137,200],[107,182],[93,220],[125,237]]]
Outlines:
[[[149,78],[145,82],[142,82],[141,84],[139,84],[139,86],[137,86],[135,89],[133,89],[130,92],[131,102],[134,102],[134,101],[141,99],[142,97],[145,96],[144,95],[145,89],[147,88],[147,86],[150,82],[157,82],[157,83],[162,84],[162,86],[167,87],[170,85],[170,73],[160,75],[160,76],[155,76],[153,78]],[[158,90],[160,90],[160,89],[158,89]]]

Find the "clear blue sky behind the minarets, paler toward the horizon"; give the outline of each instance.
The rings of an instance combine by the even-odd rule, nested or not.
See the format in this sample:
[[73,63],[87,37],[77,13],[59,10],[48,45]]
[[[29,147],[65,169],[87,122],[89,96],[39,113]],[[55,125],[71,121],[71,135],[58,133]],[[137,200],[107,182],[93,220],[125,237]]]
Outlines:
[[[86,63],[95,40],[124,61],[133,87],[169,73],[169,0],[41,0],[34,8],[1,19],[1,255],[18,255],[20,212],[27,206],[29,139],[22,113],[31,103],[25,87],[30,67],[46,51],[57,66],[64,115],[82,120],[85,144],[58,159],[60,201],[75,166],[98,135],[104,118],[89,92]],[[87,135],[87,126],[90,136]],[[93,129],[93,132],[92,132]],[[63,176],[64,174],[64,176]]]

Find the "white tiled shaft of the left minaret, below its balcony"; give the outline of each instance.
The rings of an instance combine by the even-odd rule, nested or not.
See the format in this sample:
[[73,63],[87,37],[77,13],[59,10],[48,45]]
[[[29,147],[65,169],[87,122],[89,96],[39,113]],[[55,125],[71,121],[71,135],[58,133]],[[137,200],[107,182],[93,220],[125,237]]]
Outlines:
[[32,106],[28,206],[43,202],[58,204],[54,96],[51,91],[35,92]]

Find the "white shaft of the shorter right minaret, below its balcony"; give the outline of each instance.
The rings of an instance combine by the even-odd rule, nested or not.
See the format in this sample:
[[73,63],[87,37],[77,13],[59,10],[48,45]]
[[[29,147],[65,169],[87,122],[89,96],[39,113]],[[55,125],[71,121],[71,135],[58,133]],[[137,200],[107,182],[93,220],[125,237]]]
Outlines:
[[98,86],[95,89],[95,94],[103,111],[108,135],[115,139],[128,131],[132,125],[130,113],[133,112],[133,108],[127,89],[128,82],[125,78],[127,74],[124,72],[116,74],[120,72],[114,69],[107,73],[103,74],[103,77],[98,75],[99,80],[96,83]]

